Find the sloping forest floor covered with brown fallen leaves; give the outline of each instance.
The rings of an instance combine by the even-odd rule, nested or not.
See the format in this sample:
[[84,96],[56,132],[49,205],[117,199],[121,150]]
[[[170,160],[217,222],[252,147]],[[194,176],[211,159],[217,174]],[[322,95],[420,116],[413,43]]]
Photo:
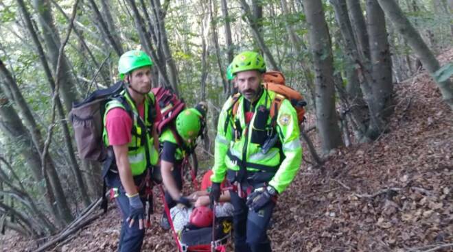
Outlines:
[[[439,60],[452,62],[453,49]],[[338,149],[321,168],[304,162],[279,198],[274,251],[453,251],[453,113],[426,72],[395,90],[387,134]],[[154,205],[143,251],[176,251]],[[49,251],[115,251],[120,218],[109,208]],[[12,232],[0,243],[0,251],[36,249]]]

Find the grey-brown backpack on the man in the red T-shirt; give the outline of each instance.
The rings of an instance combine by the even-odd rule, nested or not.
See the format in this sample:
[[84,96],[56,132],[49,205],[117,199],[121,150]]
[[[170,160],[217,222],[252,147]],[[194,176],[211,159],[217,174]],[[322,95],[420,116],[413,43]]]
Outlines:
[[[124,85],[122,81],[118,81],[109,88],[92,92],[83,101],[73,103],[69,120],[73,125],[75,142],[82,160],[102,162],[107,157],[107,148],[102,144],[105,107],[113,97],[120,97],[119,93],[122,90]],[[132,114],[129,104],[124,99],[119,100],[128,114]]]

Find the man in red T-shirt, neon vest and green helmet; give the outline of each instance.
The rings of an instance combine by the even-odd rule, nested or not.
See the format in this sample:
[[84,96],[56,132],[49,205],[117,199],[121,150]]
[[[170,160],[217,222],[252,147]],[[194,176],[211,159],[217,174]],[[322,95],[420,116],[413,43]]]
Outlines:
[[150,57],[128,51],[118,62],[124,90],[106,104],[103,140],[109,149],[106,184],[114,192],[123,223],[118,251],[140,251],[145,234],[145,186],[159,160],[154,122],[161,112],[151,90]]

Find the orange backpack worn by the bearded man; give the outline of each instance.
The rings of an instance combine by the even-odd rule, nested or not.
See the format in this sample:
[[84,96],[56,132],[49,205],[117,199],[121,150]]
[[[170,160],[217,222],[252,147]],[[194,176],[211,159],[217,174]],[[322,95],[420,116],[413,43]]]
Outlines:
[[[307,103],[303,99],[303,96],[301,95],[300,92],[297,92],[296,90],[290,88],[289,86],[286,86],[285,77],[283,76],[283,73],[278,71],[269,71],[267,73],[264,73],[262,85],[267,90],[277,93],[275,99],[272,100],[272,103],[270,105],[271,118],[278,114],[279,108],[283,100],[288,99],[288,101],[291,102],[291,105],[294,107],[294,109],[296,109],[299,124],[303,123],[303,121],[305,120],[304,116],[305,109],[303,107],[305,107]],[[236,102],[239,99],[239,97],[240,94],[236,94],[233,96],[234,103],[233,116],[236,115],[237,108],[239,107],[239,103]]]

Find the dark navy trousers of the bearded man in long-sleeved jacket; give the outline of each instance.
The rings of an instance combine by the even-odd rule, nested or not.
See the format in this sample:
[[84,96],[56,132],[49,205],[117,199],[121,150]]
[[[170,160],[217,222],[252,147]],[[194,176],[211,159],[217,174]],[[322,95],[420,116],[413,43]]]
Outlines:
[[236,252],[267,252],[272,251],[267,229],[274,211],[275,202],[270,201],[258,212],[248,210],[246,199],[237,192],[230,190],[231,203],[234,206],[233,230]]

